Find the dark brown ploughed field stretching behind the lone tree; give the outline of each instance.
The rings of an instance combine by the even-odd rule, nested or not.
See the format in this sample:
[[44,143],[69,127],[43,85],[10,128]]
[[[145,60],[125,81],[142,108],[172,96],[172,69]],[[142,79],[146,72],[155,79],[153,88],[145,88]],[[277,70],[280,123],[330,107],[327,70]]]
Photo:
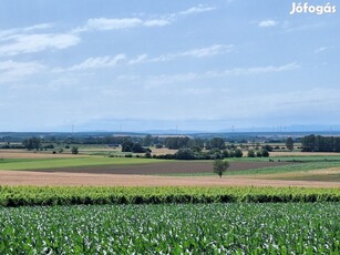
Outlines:
[[[287,165],[288,162],[230,162],[228,171],[243,171],[251,169],[262,169],[269,166]],[[66,172],[66,173],[91,173],[91,174],[199,174],[213,173],[213,162],[161,162],[152,164],[135,165],[100,165],[82,167],[63,167],[31,170],[39,172]]]

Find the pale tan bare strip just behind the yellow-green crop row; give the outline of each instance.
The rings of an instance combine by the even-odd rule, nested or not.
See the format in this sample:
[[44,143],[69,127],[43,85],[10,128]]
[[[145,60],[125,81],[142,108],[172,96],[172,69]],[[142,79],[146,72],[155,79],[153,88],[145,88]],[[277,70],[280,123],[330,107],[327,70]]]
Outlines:
[[133,174],[0,171],[0,185],[38,186],[306,186],[340,187],[336,182],[255,180],[244,176],[151,176]]

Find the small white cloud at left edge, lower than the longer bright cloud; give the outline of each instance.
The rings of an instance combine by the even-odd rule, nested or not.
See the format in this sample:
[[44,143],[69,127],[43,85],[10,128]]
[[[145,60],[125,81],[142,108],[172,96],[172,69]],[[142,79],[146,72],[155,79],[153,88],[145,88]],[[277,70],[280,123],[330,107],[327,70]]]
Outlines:
[[14,62],[12,60],[0,62],[0,81],[11,82],[21,80],[27,75],[31,75],[45,69],[39,62]]

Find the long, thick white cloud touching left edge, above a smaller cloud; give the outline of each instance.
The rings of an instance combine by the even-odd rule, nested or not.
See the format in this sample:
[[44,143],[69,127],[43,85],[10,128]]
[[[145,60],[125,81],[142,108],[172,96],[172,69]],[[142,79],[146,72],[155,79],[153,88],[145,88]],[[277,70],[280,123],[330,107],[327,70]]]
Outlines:
[[81,39],[74,34],[14,34],[0,45],[0,55],[32,53],[48,49],[65,49],[78,44]]

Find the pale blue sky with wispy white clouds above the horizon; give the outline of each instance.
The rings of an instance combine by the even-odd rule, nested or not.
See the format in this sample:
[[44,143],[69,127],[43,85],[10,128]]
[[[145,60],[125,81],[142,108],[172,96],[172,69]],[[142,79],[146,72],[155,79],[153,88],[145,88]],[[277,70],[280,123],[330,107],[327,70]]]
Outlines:
[[0,132],[340,125],[339,13],[293,2],[0,1]]

